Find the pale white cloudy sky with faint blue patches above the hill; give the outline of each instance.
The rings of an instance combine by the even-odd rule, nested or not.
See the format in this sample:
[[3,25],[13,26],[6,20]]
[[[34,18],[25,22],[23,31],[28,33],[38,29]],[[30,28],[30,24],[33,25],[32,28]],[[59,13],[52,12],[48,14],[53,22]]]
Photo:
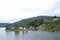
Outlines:
[[60,0],[0,0],[0,23],[47,15],[60,16]]

